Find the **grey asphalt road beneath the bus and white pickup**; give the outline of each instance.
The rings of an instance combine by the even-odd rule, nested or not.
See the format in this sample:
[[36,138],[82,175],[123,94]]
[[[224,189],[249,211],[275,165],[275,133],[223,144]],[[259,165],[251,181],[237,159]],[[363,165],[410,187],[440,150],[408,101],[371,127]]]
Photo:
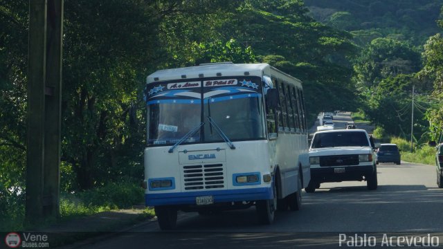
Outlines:
[[343,248],[351,237],[370,243],[365,235],[381,247],[383,237],[428,234],[442,248],[443,189],[435,183],[435,167],[380,164],[377,174],[377,190],[356,181],[303,191],[302,209],[277,212],[272,225],[258,225],[255,208],[213,216],[181,213],[175,231],[161,232],[156,222],[147,222],[77,248]]

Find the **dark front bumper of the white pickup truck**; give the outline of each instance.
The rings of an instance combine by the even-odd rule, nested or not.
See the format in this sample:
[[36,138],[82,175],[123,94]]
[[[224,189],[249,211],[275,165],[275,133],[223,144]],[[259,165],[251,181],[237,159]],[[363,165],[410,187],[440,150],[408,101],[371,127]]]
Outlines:
[[[343,172],[344,169],[344,172]],[[374,166],[337,166],[337,167],[311,167],[311,181],[316,183],[334,183],[341,181],[363,181],[363,176],[368,178],[374,172]]]

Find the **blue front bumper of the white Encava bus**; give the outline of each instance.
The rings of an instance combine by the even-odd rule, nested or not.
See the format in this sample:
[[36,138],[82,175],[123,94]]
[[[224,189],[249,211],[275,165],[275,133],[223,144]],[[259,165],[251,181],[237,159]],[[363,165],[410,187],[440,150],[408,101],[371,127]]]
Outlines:
[[273,192],[271,187],[257,187],[240,190],[145,194],[145,201],[147,206],[195,205],[196,198],[199,196],[213,196],[214,203],[227,203],[233,201],[270,200],[273,199]]

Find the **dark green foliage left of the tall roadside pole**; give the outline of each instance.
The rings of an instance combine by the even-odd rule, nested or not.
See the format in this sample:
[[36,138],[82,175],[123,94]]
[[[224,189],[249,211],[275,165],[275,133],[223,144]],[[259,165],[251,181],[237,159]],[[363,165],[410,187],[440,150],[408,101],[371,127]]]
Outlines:
[[27,7],[0,3],[0,223],[24,212]]

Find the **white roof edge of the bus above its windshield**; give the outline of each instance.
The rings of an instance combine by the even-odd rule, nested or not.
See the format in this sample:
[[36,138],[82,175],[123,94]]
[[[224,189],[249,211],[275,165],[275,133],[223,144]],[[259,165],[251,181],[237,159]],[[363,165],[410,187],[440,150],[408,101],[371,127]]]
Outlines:
[[[218,76],[238,76],[248,75],[259,76],[270,74],[271,71],[281,73],[286,77],[290,77],[293,80],[299,81],[296,78],[279,71],[269,64],[257,63],[257,64],[233,64],[232,62],[222,63],[210,63],[201,64],[201,66],[189,66],[185,68],[172,68],[159,70],[146,77],[146,82],[162,82],[166,80],[179,80],[179,79],[195,79],[199,77],[218,77]],[[220,74],[220,75],[217,75]],[[186,76],[183,76],[186,75]],[[203,76],[201,76],[203,75]]]

